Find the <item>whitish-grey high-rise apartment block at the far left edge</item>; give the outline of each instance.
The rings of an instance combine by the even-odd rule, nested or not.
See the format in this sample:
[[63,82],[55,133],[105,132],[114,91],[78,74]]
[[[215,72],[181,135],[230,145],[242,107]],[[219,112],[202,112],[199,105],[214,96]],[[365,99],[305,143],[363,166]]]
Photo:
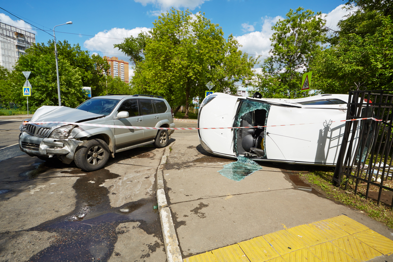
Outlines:
[[0,65],[13,70],[25,50],[35,43],[35,34],[0,22]]

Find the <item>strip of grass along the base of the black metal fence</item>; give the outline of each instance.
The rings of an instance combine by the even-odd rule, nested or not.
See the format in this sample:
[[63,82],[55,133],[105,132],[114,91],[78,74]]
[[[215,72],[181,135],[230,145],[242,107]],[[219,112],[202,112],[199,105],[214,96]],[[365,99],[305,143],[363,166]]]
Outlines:
[[[342,188],[335,187],[332,183],[333,172],[312,171],[301,173],[300,176],[303,180],[312,184],[313,187],[323,191],[326,198],[354,207],[393,229],[393,211],[390,206],[385,204],[377,205],[376,201],[372,199],[366,200],[363,194],[359,194],[361,190],[355,195],[352,189],[345,191]],[[391,187],[388,184],[387,186]],[[371,190],[376,190],[376,187]]]

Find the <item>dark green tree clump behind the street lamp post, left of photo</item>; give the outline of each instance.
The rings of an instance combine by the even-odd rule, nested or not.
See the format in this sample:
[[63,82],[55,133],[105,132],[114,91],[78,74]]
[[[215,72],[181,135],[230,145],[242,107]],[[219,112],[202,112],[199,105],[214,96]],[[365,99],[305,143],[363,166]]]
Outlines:
[[[67,41],[57,43],[61,104],[75,107],[84,101],[82,87],[91,87],[92,95],[98,96],[105,91],[105,72],[109,69],[106,59],[82,51],[79,45]],[[26,55],[19,58],[10,86],[12,95],[9,102],[25,103],[22,86],[26,80],[22,71],[31,71],[29,82],[32,96],[31,108],[42,105],[57,105],[56,61],[53,41],[48,46],[38,43],[26,50]]]

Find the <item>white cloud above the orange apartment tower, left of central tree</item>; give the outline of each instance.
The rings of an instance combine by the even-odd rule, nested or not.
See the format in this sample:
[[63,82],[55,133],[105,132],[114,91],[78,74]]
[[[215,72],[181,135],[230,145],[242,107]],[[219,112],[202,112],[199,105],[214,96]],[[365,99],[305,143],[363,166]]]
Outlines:
[[113,45],[120,44],[126,37],[137,37],[140,32],[147,32],[148,30],[148,28],[112,28],[109,31],[98,32],[94,37],[84,41],[83,45],[89,51],[102,52],[101,56],[118,57],[119,59],[128,61],[129,58],[117,48],[114,48]]

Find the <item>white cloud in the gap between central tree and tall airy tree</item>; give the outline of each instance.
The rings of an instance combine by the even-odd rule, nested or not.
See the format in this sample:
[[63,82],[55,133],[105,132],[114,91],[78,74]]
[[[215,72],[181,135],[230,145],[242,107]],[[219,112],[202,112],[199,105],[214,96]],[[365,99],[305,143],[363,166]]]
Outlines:
[[242,45],[240,49],[248,54],[268,56],[271,48],[270,37],[273,34],[272,26],[280,19],[283,18],[281,16],[276,16],[275,18],[264,17],[262,18],[260,31],[237,36],[237,41]]

